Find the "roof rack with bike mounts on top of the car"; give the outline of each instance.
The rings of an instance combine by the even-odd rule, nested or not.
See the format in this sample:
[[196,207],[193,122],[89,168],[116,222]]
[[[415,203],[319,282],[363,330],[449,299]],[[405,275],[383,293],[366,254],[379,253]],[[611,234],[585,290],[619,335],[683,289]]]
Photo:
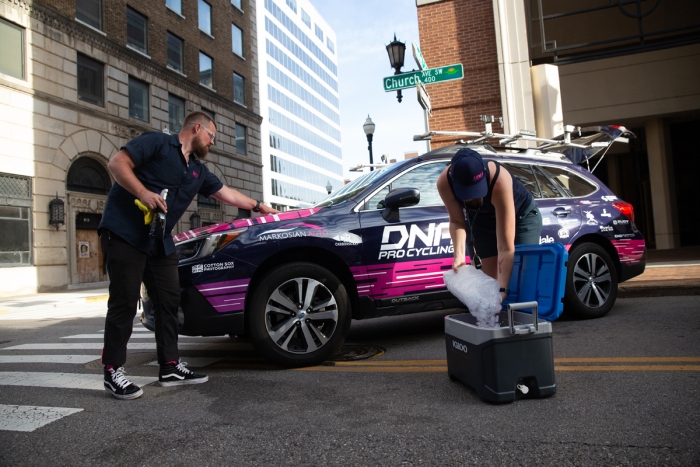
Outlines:
[[[428,131],[422,135],[414,136],[413,141],[426,141],[432,139],[433,136],[468,136],[476,138],[469,141],[460,141],[466,144],[487,144],[489,140],[493,139],[497,139],[500,145],[513,144],[518,141],[533,141],[541,143],[536,148],[538,152],[561,152],[574,164],[586,162],[587,165],[592,157],[598,155],[604,149],[605,151],[601,154],[600,160],[593,167],[593,170],[595,170],[613,143],[628,143],[629,138],[636,137],[634,133],[619,125],[583,128],[566,125],[564,126],[564,134],[553,139],[537,138],[537,134],[532,130],[520,130],[517,134],[508,135],[493,132],[493,123],[496,121],[503,128],[502,117],[496,118],[492,115],[481,115],[479,119],[485,125],[485,130],[480,133],[472,131]],[[588,165],[588,169],[590,170],[590,165]],[[590,171],[593,172],[593,170]]]

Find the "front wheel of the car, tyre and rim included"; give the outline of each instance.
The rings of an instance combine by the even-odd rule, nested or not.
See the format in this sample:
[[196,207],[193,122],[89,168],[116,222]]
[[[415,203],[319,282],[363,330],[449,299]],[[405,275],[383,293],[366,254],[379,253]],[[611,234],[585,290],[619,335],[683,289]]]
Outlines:
[[268,273],[254,292],[248,320],[256,349],[278,365],[318,365],[350,329],[345,287],[329,270],[291,263]]

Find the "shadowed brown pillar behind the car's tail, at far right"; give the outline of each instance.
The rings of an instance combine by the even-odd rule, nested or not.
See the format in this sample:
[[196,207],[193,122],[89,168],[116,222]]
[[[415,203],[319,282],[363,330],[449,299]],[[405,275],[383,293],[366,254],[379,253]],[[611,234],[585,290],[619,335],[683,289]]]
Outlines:
[[662,118],[645,124],[656,249],[680,247],[673,157],[668,125]]

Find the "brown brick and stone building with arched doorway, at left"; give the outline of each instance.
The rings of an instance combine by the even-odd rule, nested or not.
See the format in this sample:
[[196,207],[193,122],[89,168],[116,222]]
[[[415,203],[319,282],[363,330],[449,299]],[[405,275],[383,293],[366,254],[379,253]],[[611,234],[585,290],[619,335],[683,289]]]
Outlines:
[[[0,0],[0,296],[103,285],[107,162],[190,111],[217,124],[208,167],[262,199],[256,21],[254,0]],[[250,215],[200,198],[175,231],[195,212]]]

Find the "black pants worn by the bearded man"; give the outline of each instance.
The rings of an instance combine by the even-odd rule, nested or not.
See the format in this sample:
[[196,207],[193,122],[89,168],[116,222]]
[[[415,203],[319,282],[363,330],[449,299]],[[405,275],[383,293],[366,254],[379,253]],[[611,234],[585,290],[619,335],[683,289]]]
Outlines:
[[126,344],[131,337],[142,280],[153,303],[158,363],[178,360],[177,253],[166,256],[163,242],[156,241],[150,254],[146,254],[109,230],[101,232],[100,243],[110,281],[102,363],[120,367],[126,362]]

